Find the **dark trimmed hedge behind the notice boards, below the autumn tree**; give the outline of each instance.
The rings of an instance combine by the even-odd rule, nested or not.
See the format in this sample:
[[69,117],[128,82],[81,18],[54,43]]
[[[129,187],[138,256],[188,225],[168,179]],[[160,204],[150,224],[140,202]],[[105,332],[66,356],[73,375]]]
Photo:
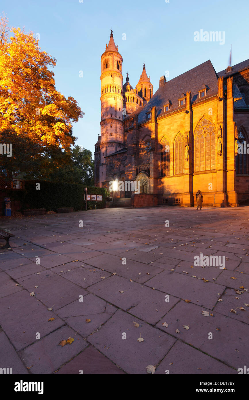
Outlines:
[[[36,184],[40,183],[40,190]],[[3,189],[2,196],[20,200],[21,210],[45,208],[52,211],[55,208],[73,207],[74,210],[85,210],[84,188],[82,184],[60,183],[42,180],[25,181],[25,190]],[[103,208],[109,191],[105,188],[88,186],[88,194],[101,194],[102,201],[88,202],[88,209]]]

